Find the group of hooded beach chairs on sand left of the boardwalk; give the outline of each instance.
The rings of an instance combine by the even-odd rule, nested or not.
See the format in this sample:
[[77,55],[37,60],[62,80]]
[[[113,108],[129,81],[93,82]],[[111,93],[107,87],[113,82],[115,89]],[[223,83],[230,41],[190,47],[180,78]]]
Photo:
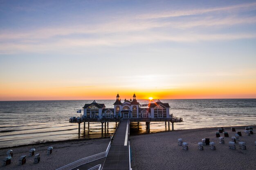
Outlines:
[[[47,148],[47,154],[48,155],[52,154],[52,149],[53,149],[52,146]],[[34,163],[39,163],[39,161],[40,161],[40,153],[35,155],[35,151],[36,151],[35,148],[30,149],[29,150],[29,156],[30,157],[34,156]],[[8,150],[6,152],[6,154],[7,154],[7,157],[5,157],[3,159],[3,166],[7,166],[7,165],[11,164],[11,159],[13,157],[13,150]],[[19,161],[20,165],[23,165],[23,164],[26,163],[26,157],[27,157],[27,155],[22,155],[21,157],[19,157],[18,161]]]

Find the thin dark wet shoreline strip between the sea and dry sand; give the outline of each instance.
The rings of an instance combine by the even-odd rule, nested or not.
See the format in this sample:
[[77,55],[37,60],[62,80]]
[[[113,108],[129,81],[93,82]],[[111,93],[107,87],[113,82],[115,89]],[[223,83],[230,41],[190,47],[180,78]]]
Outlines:
[[[256,125],[238,125],[238,126],[223,126],[224,128],[231,128],[231,127],[238,127],[238,128],[241,128],[241,127],[248,127],[248,126],[256,126]],[[218,129],[220,127],[210,127],[210,128],[193,128],[193,129],[177,129],[177,130],[163,130],[163,131],[156,131],[156,132],[150,132],[150,133],[139,133],[139,134],[132,134],[130,136],[139,136],[139,135],[150,135],[150,134],[155,134],[155,133],[166,133],[166,132],[174,132],[174,131],[184,131],[184,130],[205,130],[205,129],[209,129],[209,130],[212,130],[212,129]],[[95,133],[96,134],[96,133]],[[101,133],[99,133],[101,134]],[[109,137],[94,137],[94,138],[81,138],[81,139],[67,139],[67,140],[59,140],[59,141],[46,141],[46,142],[39,142],[39,143],[34,143],[34,144],[24,144],[24,145],[18,145],[18,146],[9,146],[9,147],[3,147],[3,148],[0,148],[0,150],[3,150],[3,149],[11,149],[11,148],[18,148],[18,147],[26,147],[26,146],[35,146],[35,145],[40,145],[40,144],[65,144],[65,143],[68,143],[68,142],[73,142],[73,141],[89,141],[89,140],[94,140],[94,139],[106,139],[106,138],[109,138]]]

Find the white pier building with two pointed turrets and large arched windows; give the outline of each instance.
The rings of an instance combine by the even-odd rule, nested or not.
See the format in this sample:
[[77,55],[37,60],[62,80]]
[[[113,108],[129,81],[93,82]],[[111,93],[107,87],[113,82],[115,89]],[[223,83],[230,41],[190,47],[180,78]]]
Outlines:
[[[139,104],[136,95],[132,99],[121,102],[119,94],[113,104],[114,108],[106,108],[105,104],[99,104],[94,100],[83,106],[83,118],[170,118],[170,106],[157,100],[155,103]],[[147,108],[145,108],[147,107]]]

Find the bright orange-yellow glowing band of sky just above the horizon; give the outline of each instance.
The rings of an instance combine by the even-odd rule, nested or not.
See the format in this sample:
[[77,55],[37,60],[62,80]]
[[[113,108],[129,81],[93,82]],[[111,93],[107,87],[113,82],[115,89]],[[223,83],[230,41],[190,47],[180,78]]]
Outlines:
[[[235,86],[234,86],[235,84]],[[121,99],[209,99],[209,98],[256,98],[256,82],[214,82],[193,84],[180,88],[117,88],[115,86],[79,87],[27,87],[0,85],[0,100],[86,100],[116,99],[117,91]]]

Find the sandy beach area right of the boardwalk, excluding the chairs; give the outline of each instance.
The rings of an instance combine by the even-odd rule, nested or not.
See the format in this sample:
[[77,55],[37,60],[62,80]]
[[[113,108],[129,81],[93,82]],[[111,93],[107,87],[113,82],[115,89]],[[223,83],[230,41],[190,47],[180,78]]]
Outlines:
[[[228,147],[228,142],[236,132],[225,128],[229,137],[224,137],[225,144],[219,144],[215,132],[218,128],[204,128],[191,130],[174,130],[149,135],[130,136],[132,148],[132,170],[255,170],[256,169],[256,134],[246,136],[243,127],[236,127],[242,131],[239,141],[244,141],[247,150],[236,150]],[[255,131],[255,130],[254,130]],[[189,150],[182,150],[177,139],[182,138],[189,144]],[[198,142],[203,138],[210,138],[216,143],[216,150],[209,145],[204,150],[198,150]]]

